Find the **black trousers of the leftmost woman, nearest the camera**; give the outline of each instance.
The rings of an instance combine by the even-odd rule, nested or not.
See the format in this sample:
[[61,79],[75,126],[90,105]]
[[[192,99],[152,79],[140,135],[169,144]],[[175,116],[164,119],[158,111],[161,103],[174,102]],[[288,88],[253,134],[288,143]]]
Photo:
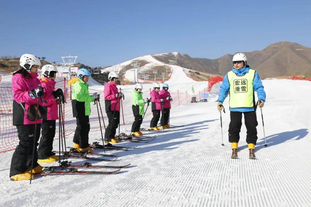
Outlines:
[[[10,177],[12,175],[30,171],[32,162],[32,151],[35,137],[34,136],[35,124],[18,125],[16,126],[16,128],[19,143],[12,156]],[[37,162],[38,161],[37,146],[40,137],[40,131],[41,131],[41,124],[37,124],[33,168],[39,165]]]

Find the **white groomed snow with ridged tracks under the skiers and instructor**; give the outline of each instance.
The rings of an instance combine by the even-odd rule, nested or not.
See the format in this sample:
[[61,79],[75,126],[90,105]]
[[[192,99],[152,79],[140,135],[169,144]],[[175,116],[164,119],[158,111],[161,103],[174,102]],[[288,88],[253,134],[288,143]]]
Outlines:
[[[268,146],[264,147],[258,110],[256,160],[248,159],[244,124],[239,159],[230,159],[229,98],[222,113],[225,146],[221,146],[216,102],[192,103],[171,110],[170,124],[184,124],[183,128],[145,133],[157,135],[149,143],[121,142],[118,145],[137,148],[110,152],[118,155],[112,163],[89,161],[131,163],[115,175],[49,175],[35,177],[31,185],[13,182],[9,179],[13,151],[1,153],[0,206],[311,206],[311,82],[264,80],[263,84]],[[143,125],[150,120],[151,116],[145,117]],[[121,132],[130,128],[131,124],[121,125]],[[67,146],[72,146],[72,136]],[[90,142],[100,137],[100,131],[91,133]]]

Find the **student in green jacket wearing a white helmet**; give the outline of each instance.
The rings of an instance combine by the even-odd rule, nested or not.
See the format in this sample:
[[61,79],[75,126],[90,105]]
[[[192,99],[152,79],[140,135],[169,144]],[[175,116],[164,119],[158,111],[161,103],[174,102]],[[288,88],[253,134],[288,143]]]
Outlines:
[[135,117],[135,120],[132,124],[132,134],[135,134],[136,136],[141,136],[142,132],[139,131],[140,125],[142,124],[142,115],[145,114],[145,103],[149,101],[148,98],[143,100],[142,98],[142,84],[137,83],[135,84],[135,89],[134,91],[131,92],[132,98],[132,110],[133,110],[133,115]]

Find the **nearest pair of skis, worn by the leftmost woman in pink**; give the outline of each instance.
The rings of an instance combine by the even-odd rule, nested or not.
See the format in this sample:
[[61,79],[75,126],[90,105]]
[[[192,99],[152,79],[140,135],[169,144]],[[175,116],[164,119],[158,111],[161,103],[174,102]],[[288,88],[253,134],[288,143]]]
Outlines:
[[[36,173],[36,175],[60,175],[60,174],[104,174],[111,175],[118,173],[121,169],[127,168],[131,164],[123,165],[123,166],[109,166],[109,165],[92,165],[91,163],[84,163],[81,165],[71,165],[71,162],[63,161],[59,166],[50,166],[43,168],[42,173]],[[110,168],[117,169],[114,171],[78,171],[78,168],[82,169],[98,169],[98,168]],[[61,170],[55,170],[61,169]],[[66,169],[62,171],[63,169]]]

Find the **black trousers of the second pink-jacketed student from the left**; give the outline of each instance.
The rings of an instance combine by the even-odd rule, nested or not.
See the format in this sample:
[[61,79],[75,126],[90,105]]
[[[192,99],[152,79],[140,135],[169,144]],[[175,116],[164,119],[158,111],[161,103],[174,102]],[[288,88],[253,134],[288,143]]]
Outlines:
[[53,150],[53,140],[55,137],[56,120],[44,120],[41,124],[41,139],[38,148],[38,159],[47,159],[55,155]]

